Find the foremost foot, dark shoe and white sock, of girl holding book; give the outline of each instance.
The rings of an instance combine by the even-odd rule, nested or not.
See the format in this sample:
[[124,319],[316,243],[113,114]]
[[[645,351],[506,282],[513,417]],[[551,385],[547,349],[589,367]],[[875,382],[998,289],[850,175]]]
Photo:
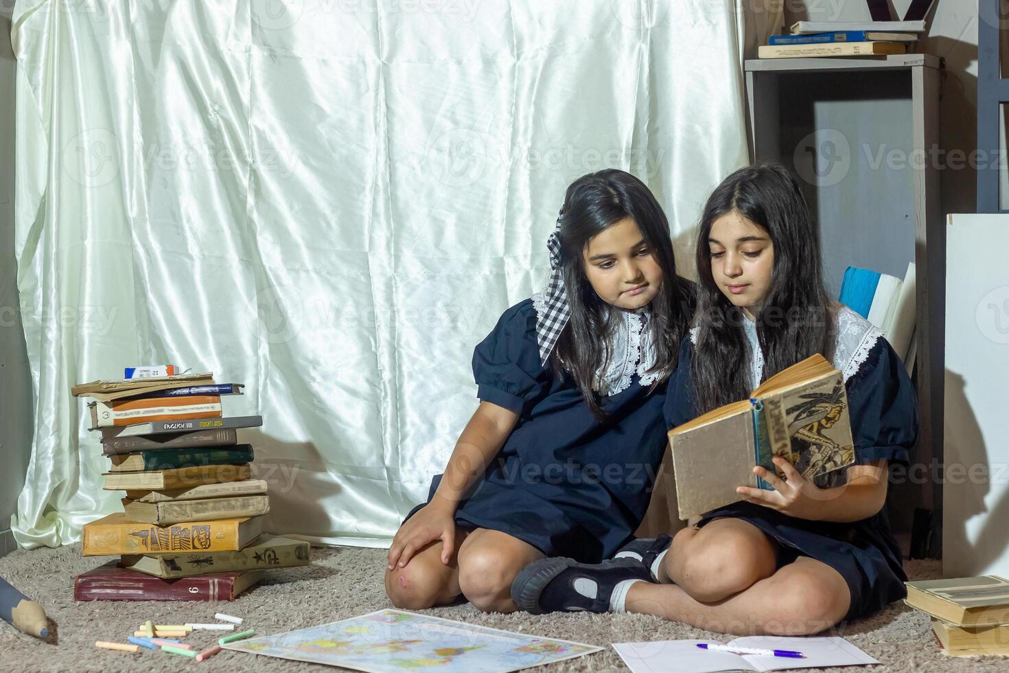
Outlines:
[[630,585],[650,580],[648,568],[635,559],[591,564],[568,558],[545,558],[516,575],[512,599],[533,614],[622,612]]

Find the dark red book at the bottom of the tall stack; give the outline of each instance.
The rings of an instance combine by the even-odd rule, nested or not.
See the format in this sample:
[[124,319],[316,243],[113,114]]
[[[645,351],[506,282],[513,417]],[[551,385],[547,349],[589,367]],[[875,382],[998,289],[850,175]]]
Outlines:
[[75,577],[74,600],[234,600],[263,575],[245,570],[160,579],[117,563],[109,561]]

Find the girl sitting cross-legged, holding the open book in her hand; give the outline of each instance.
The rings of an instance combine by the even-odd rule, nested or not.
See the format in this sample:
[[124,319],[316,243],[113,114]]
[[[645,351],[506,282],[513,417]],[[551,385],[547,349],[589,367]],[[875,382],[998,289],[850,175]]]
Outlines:
[[774,490],[669,536],[637,540],[596,565],[543,559],[513,595],[534,612],[631,611],[712,631],[800,635],[904,597],[906,576],[884,509],[887,466],[917,437],[914,389],[868,321],[828,301],[815,223],[796,179],[761,164],[730,176],[704,208],[696,249],[695,327],[670,380],[670,428],[745,400],[815,353],[842,371],[855,464],[805,480],[755,467]]

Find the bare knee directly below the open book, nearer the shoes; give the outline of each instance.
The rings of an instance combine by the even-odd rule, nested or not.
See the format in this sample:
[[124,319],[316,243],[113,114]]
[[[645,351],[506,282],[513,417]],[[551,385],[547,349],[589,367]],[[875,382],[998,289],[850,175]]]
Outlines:
[[711,533],[684,536],[668,555],[667,573],[694,600],[716,602],[774,574],[776,554],[763,538],[732,530]]

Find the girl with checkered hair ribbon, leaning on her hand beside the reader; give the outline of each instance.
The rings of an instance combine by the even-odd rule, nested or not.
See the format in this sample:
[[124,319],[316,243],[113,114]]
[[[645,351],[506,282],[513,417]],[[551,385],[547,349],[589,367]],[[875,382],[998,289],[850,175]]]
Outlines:
[[676,275],[655,197],[623,171],[568,188],[548,247],[550,284],[476,346],[480,405],[393,541],[385,590],[398,607],[461,594],[512,611],[529,563],[606,559],[645,515],[692,284]]

